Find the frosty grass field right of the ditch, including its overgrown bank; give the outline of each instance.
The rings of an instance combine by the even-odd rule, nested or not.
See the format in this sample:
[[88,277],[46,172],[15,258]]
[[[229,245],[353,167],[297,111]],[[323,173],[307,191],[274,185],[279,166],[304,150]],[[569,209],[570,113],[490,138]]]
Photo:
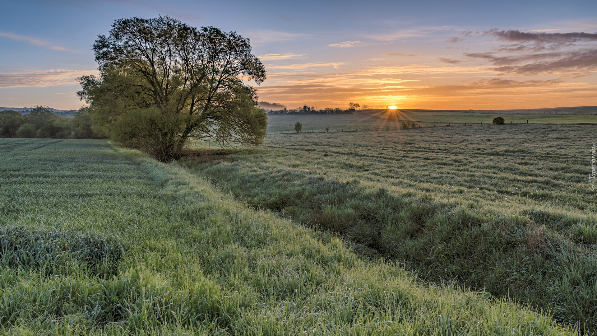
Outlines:
[[[271,117],[270,126],[331,120],[293,117]],[[594,330],[597,197],[587,179],[591,143],[580,140],[592,132],[540,124],[272,131],[263,148],[181,164],[420,279],[456,280]]]

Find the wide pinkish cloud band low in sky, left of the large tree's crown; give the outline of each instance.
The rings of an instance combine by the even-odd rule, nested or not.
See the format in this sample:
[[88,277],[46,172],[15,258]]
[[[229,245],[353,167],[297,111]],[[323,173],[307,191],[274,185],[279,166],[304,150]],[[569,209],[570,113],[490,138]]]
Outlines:
[[97,75],[97,70],[52,69],[31,72],[0,72],[0,87],[48,87],[76,85],[76,78]]

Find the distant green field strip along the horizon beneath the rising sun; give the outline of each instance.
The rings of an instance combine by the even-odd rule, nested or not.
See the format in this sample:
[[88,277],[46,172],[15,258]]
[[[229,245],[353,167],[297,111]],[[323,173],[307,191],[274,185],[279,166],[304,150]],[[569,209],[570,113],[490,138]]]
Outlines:
[[[478,123],[491,124],[493,118],[503,117],[506,123],[530,124],[579,124],[597,123],[597,115],[555,115],[555,114],[475,114],[468,112],[402,111],[378,110],[355,112],[355,114],[294,114],[270,115],[267,130],[270,133],[294,132],[294,123],[303,123],[303,132],[354,131],[365,129],[396,129],[400,121],[417,121],[420,126],[433,127],[446,124]],[[294,120],[296,119],[296,120]]]

